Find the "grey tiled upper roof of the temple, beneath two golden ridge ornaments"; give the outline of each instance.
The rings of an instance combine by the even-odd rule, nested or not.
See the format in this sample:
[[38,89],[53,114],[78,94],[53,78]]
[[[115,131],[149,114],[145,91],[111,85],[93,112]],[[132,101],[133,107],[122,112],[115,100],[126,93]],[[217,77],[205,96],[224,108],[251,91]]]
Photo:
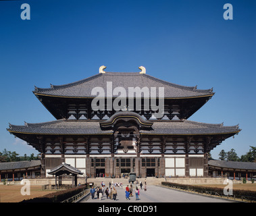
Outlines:
[[105,97],[107,95],[107,82],[111,82],[112,89],[116,87],[123,87],[126,90],[128,96],[129,87],[148,87],[149,91],[151,87],[157,88],[157,95],[159,97],[159,87],[164,87],[164,97],[168,99],[182,99],[193,97],[206,97],[212,96],[213,89],[199,90],[197,86],[188,87],[173,84],[159,80],[153,76],[147,74],[141,74],[140,72],[105,72],[95,76],[91,76],[84,80],[72,82],[64,85],[51,85],[51,88],[38,88],[35,87],[34,94],[46,95],[51,97],[71,97],[71,98],[94,98],[91,92],[95,87],[102,87],[105,90]]

